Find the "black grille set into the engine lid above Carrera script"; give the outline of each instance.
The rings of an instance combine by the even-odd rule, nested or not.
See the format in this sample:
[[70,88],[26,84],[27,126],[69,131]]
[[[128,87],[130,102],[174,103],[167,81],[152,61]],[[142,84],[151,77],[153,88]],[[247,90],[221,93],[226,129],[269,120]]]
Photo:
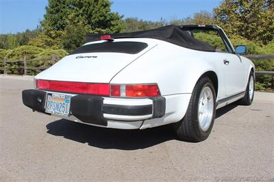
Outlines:
[[77,53],[128,53],[136,54],[147,48],[144,42],[103,42],[87,44],[77,48],[71,54]]

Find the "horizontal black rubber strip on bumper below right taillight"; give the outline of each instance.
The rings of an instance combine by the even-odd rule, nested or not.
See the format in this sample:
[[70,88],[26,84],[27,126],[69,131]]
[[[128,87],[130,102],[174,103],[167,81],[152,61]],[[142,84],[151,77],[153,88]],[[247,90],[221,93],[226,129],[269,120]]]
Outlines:
[[142,116],[152,114],[152,105],[103,105],[103,113],[126,116]]

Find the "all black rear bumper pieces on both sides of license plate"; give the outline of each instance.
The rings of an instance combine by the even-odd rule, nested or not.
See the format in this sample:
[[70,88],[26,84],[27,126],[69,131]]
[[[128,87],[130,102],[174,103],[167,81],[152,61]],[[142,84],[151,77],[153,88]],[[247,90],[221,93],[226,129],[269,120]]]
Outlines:
[[[34,111],[45,113],[47,92],[42,90],[23,90],[23,104]],[[161,118],[166,111],[166,100],[163,96],[151,98],[152,105],[110,105],[103,104],[102,96],[79,94],[71,97],[71,114],[82,122],[107,126],[103,114],[125,116],[143,116],[153,114],[151,118]]]

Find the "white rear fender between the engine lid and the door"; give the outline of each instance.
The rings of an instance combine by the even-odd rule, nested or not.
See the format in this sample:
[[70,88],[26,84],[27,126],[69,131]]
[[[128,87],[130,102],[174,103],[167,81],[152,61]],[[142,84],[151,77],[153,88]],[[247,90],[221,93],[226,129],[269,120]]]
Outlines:
[[161,94],[165,96],[192,93],[198,79],[208,71],[219,75],[212,66],[214,64],[203,60],[201,51],[166,44],[158,44],[155,49],[139,57],[110,83],[158,83]]

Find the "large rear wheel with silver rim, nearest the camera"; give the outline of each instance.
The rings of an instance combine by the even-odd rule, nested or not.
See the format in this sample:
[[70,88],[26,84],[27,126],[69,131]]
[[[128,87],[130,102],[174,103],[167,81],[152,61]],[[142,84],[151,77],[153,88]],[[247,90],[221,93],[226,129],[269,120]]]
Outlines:
[[215,114],[216,92],[213,83],[209,77],[201,77],[192,92],[184,118],[176,122],[173,129],[179,140],[201,142],[210,135]]

